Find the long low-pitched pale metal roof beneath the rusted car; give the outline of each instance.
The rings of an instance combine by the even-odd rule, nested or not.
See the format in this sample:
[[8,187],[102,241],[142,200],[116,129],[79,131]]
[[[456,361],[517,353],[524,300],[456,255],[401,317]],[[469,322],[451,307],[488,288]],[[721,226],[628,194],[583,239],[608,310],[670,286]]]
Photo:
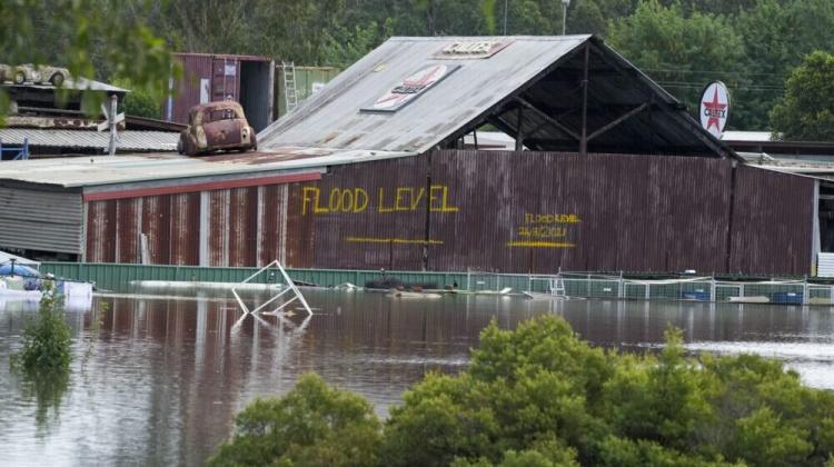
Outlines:
[[275,172],[324,169],[327,166],[363,162],[407,152],[279,148],[269,152],[221,153],[187,157],[171,153],[145,156],[96,156],[0,162],[0,181],[95,187],[111,183],[153,181],[177,183],[183,178],[242,176],[260,177]]

